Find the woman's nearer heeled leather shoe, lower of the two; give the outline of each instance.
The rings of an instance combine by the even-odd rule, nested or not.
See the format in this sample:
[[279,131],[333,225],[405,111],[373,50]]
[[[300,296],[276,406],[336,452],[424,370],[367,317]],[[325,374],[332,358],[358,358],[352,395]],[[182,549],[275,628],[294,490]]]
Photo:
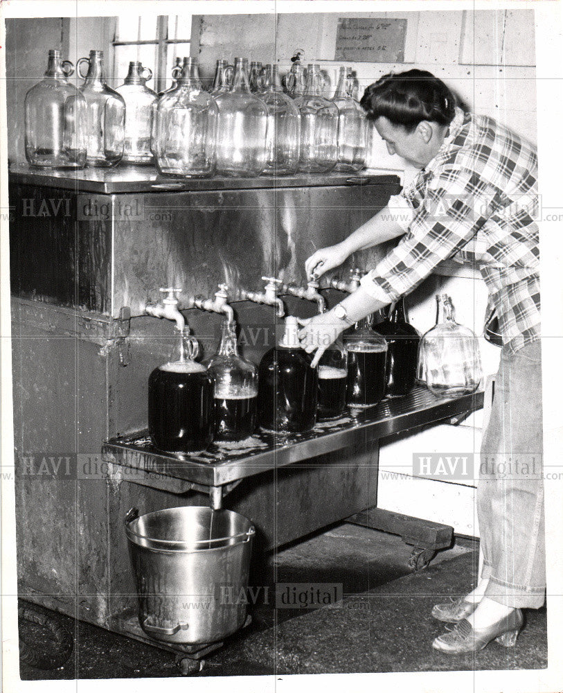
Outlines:
[[439,635],[432,643],[432,647],[448,654],[478,652],[486,647],[491,640],[496,640],[504,647],[514,647],[523,625],[524,616],[519,608],[486,628],[474,629],[470,622],[464,618],[456,623],[451,631]]

